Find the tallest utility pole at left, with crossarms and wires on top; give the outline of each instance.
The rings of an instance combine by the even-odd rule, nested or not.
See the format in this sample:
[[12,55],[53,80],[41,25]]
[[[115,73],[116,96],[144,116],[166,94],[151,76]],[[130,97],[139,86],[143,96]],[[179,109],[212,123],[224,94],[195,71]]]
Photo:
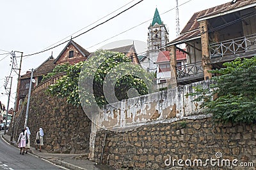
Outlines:
[[[15,52],[18,52],[18,51],[14,51],[12,52],[12,57],[13,57],[13,61],[16,60],[16,55],[15,55]],[[16,96],[15,96],[15,102],[14,102],[14,108],[13,108],[13,118],[12,118],[12,135],[11,135],[11,138],[10,138],[10,141],[13,141],[13,131],[14,131],[14,124],[15,124],[15,115],[16,115],[16,111],[18,110],[19,108],[19,89],[20,89],[20,71],[21,71],[21,63],[22,63],[22,55],[23,55],[23,52],[19,52],[21,53],[20,55],[20,66],[19,68],[17,67],[12,67],[12,69],[15,71],[16,69],[19,70],[19,74],[18,74],[18,80],[17,80],[17,90],[16,90]],[[15,73],[17,73],[15,71]]]

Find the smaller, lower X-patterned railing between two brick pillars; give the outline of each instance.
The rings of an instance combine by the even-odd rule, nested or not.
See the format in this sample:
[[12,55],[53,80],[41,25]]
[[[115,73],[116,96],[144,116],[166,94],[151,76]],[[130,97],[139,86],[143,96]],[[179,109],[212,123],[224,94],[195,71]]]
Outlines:
[[194,62],[177,67],[178,78],[204,73],[202,62]]

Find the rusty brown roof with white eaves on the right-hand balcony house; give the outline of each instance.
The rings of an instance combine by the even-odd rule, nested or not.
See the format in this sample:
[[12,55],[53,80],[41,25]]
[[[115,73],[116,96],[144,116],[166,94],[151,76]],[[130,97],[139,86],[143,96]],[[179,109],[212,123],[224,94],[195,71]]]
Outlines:
[[237,0],[236,3],[225,3],[207,10],[198,11],[193,14],[184,29],[182,29],[179,38],[174,39],[168,44],[179,44],[186,40],[200,38],[199,20],[207,20],[253,6],[256,6],[256,0]]

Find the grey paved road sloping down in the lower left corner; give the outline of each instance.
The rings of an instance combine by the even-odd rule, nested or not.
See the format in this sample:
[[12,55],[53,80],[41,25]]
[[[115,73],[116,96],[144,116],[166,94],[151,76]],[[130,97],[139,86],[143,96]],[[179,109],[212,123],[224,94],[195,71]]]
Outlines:
[[[2,135],[3,132],[0,132]],[[31,154],[20,155],[20,150],[0,139],[0,170],[19,170],[19,169],[65,169],[55,166],[43,159]]]

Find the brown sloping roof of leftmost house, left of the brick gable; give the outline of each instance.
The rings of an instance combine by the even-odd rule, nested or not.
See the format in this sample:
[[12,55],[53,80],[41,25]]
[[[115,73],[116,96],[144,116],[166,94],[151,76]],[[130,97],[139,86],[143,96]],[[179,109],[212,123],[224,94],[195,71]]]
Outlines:
[[[53,62],[54,62],[54,58],[51,55],[51,57],[49,57],[40,66],[38,66],[35,69],[33,76],[42,76],[42,75],[51,73],[54,67],[56,66]],[[20,79],[30,78],[30,76],[31,76],[31,72],[29,71],[26,74],[20,76]]]

